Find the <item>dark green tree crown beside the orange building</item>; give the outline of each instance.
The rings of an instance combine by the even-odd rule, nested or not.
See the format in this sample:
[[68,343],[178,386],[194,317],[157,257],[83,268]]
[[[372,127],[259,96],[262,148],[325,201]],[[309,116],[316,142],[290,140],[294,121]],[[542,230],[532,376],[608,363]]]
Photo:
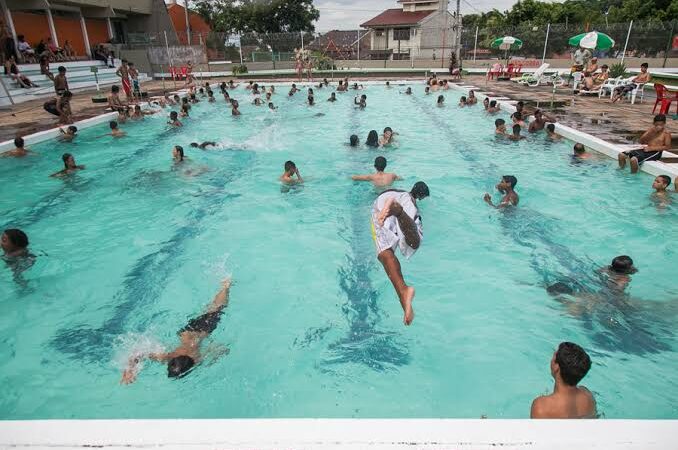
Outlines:
[[226,33],[314,31],[320,17],[313,0],[199,0],[196,11]]

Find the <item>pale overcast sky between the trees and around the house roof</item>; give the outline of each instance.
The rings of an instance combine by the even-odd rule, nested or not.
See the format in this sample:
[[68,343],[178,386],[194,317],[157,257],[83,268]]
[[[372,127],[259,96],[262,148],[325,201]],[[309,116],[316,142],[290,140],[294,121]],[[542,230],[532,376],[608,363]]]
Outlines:
[[[397,0],[314,0],[313,3],[320,10],[317,31],[355,30],[383,10],[400,7]],[[455,0],[449,3],[451,10],[456,8]],[[473,14],[493,8],[503,11],[514,3],[516,0],[462,0],[461,13]]]

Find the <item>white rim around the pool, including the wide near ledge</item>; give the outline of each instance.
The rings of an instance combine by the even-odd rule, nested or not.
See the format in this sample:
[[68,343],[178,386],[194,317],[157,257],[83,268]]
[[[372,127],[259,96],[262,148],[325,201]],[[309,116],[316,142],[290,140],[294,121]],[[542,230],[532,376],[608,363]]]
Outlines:
[[[289,85],[290,83],[266,83]],[[361,84],[383,84],[365,81]],[[417,82],[391,81],[397,85]],[[455,86],[457,90],[482,88]],[[493,97],[495,98],[495,97]],[[513,102],[500,100],[507,112]],[[85,129],[113,120],[106,113],[76,122]],[[558,133],[616,158],[624,146],[556,125]],[[32,145],[59,128],[24,136]],[[0,151],[14,148],[0,143]],[[675,168],[674,168],[675,167]],[[678,167],[650,162],[642,170],[678,176]],[[629,175],[631,176],[631,175]],[[649,187],[648,187],[649,189]],[[491,387],[488,387],[491,389]],[[499,395],[499,394],[498,394]],[[394,399],[397,403],[397,399]],[[130,405],[133,409],[134,405]],[[529,405],[525,406],[529,409]],[[394,404],[397,410],[397,404]],[[65,415],[67,414],[65,409]],[[3,415],[7,415],[6,413]],[[0,449],[458,449],[458,450],[678,450],[678,420],[481,419],[219,419],[0,421]]]

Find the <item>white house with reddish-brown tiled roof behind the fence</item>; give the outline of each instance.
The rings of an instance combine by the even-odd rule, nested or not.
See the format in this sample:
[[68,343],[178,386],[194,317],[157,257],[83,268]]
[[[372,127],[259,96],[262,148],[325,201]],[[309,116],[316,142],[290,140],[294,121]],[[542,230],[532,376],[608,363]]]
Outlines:
[[400,8],[387,9],[360,24],[371,33],[372,58],[445,58],[454,51],[457,18],[447,10],[448,0],[398,0],[398,3]]

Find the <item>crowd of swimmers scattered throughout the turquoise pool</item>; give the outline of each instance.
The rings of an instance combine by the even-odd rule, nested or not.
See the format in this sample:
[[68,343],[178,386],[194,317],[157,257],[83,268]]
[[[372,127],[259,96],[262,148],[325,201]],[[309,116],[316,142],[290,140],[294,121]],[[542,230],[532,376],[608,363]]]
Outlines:
[[[325,79],[317,85],[317,89],[323,89],[330,86],[330,83]],[[171,111],[167,124],[170,127],[181,127],[182,122],[180,118],[190,116],[191,104],[206,99],[213,103],[216,101],[214,92],[209,83],[203,86],[196,86],[195,80],[187,86],[186,95],[180,97],[178,94],[170,97],[165,94],[162,97],[152,99],[150,108],[144,110],[139,104],[132,105],[122,101],[119,94],[119,88],[113,86],[111,94],[109,95],[109,106],[114,111],[118,112],[118,120],[109,123],[111,132],[109,135],[119,138],[125,136],[125,132],[120,130],[118,123],[127,120],[139,120],[147,114],[156,114],[164,110],[166,107],[178,106],[180,112]],[[236,89],[238,85],[229,81],[219,85],[221,94],[226,102],[230,105],[232,115],[240,115],[238,101],[231,98],[228,89]],[[390,82],[386,82],[386,88],[391,88]],[[354,83],[350,86],[348,79],[341,80],[338,83],[336,92],[346,92],[349,89],[360,91],[364,86]],[[426,82],[424,94],[429,95],[432,92],[446,91],[449,89],[446,80],[438,80],[435,77],[429,78]],[[269,109],[277,109],[273,104],[273,95],[275,95],[275,86],[270,85],[266,90],[264,86],[250,81],[245,87],[254,105],[266,105]],[[292,87],[288,95],[294,96],[300,89],[296,84]],[[404,92],[405,95],[412,95],[412,89],[408,87]],[[263,100],[262,100],[263,96]],[[330,94],[328,102],[337,101],[335,92]],[[436,105],[444,106],[445,97],[440,94],[437,97]],[[473,107],[478,102],[475,93],[471,90],[468,95],[462,96],[459,100],[459,107]],[[315,105],[314,88],[308,88],[307,101],[308,105]],[[367,96],[365,94],[356,95],[353,101],[354,107],[364,109],[367,107]],[[494,115],[501,112],[501,107],[496,100],[485,98],[483,100],[483,107],[486,114]],[[507,132],[506,121],[498,118],[495,121],[495,134],[498,139],[507,139],[511,141],[519,141],[525,137],[521,134],[523,128],[527,128],[530,133],[545,130],[546,139],[559,140],[561,137],[556,133],[555,125],[556,119],[540,110],[536,110],[532,114],[533,119],[528,122],[528,114],[525,111],[524,104],[518,102],[516,111],[511,115],[513,122],[511,133]],[[654,119],[653,127],[650,128],[640,138],[640,146],[636,150],[620,154],[619,165],[623,168],[627,161],[631,162],[632,171],[637,171],[638,166],[644,161],[656,160],[661,157],[663,150],[670,148],[671,136],[665,130],[666,118],[663,115],[658,115]],[[73,125],[66,129],[61,129],[59,139],[66,142],[73,141],[77,136],[77,128]],[[381,136],[376,130],[370,131],[365,145],[367,147],[384,147],[389,146],[396,139],[397,133],[391,128],[387,127]],[[2,157],[24,157],[30,155],[32,152],[24,145],[24,140],[17,137],[14,141],[15,149],[3,153]],[[360,139],[357,135],[352,135],[349,139],[349,146],[358,147]],[[215,147],[214,142],[191,143],[191,147],[207,149]],[[184,162],[185,152],[182,146],[175,146],[172,149],[172,156],[176,164]],[[592,155],[586,152],[585,147],[577,143],[574,146],[573,160],[583,161],[590,158]],[[85,166],[76,164],[75,158],[70,153],[62,155],[64,168],[54,174],[53,177],[63,177],[73,174],[78,170],[85,169]],[[382,263],[384,270],[391,280],[393,287],[398,295],[401,306],[404,311],[404,323],[409,325],[414,319],[414,311],[412,309],[412,301],[415,290],[408,286],[403,278],[400,263],[395,256],[395,250],[398,248],[402,255],[409,258],[421,245],[423,238],[422,222],[417,202],[429,196],[429,188],[426,183],[419,181],[414,184],[410,191],[402,191],[397,189],[390,189],[391,184],[398,180],[399,177],[394,173],[385,171],[387,166],[386,158],[378,156],[375,159],[374,167],[375,173],[366,175],[354,175],[352,177],[355,181],[369,181],[375,186],[384,189],[383,192],[374,201],[372,207],[372,237],[374,239],[377,258]],[[299,169],[293,161],[287,161],[284,164],[284,172],[280,176],[281,183],[286,187],[302,184],[304,182]],[[484,200],[494,208],[512,208],[516,207],[519,202],[518,194],[514,190],[517,179],[513,175],[506,175],[501,178],[497,184],[497,190],[502,193],[502,198],[498,204],[494,204],[492,196],[486,193]],[[678,180],[676,180],[678,181]],[[663,201],[669,201],[669,193],[667,188],[671,184],[670,177],[660,175],[655,178],[653,182],[653,195],[659,197]],[[678,188],[676,188],[678,191]],[[6,229],[0,239],[0,244],[4,253],[3,259],[13,270],[26,270],[32,264],[31,261],[35,259],[28,250],[28,236],[19,229]],[[607,277],[607,283],[610,289],[618,292],[623,292],[630,282],[630,275],[636,271],[633,261],[628,256],[618,256],[614,258],[612,264],[601,269]],[[150,354],[136,354],[129,359],[129,365],[123,373],[122,382],[127,384],[136,379],[139,363],[144,358],[149,358],[155,361],[162,361],[167,363],[168,376],[183,377],[201,360],[200,343],[217,327],[223,309],[228,303],[228,291],[230,288],[230,281],[224,282],[223,288],[219,291],[213,302],[208,307],[207,313],[192,319],[188,325],[180,331],[180,344],[169,353],[150,353]],[[552,295],[569,294],[567,286],[560,283],[549,287],[549,293]],[[583,387],[578,386],[578,383],[588,373],[591,367],[591,360],[588,354],[580,346],[563,342],[553,355],[551,360],[551,373],[555,379],[554,391],[550,395],[541,396],[535,399],[532,404],[531,417],[534,418],[589,418],[596,417],[596,404],[593,395]]]

